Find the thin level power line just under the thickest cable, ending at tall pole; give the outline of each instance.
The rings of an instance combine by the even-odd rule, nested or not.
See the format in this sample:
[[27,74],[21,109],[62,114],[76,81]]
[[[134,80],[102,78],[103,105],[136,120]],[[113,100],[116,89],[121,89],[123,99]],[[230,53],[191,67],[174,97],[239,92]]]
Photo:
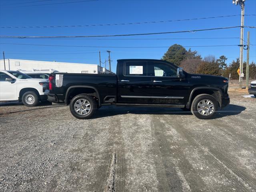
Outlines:
[[[1,37],[2,39],[16,39],[14,37]],[[40,39],[40,38],[26,38],[26,39]],[[205,37],[205,38],[43,38],[56,40],[186,40],[186,39],[240,39],[240,37]]]

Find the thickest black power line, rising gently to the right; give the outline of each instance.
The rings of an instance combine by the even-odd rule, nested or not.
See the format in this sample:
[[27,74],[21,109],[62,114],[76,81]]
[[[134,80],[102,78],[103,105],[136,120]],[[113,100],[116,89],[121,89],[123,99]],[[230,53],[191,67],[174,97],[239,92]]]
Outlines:
[[[220,29],[231,29],[240,28],[241,26],[232,27],[219,27],[210,29],[198,29],[198,30],[186,30],[186,31],[172,31],[172,32],[157,32],[157,33],[137,33],[137,34],[118,34],[118,35],[92,35],[92,36],[0,36],[2,37],[12,37],[12,38],[88,38],[88,37],[117,37],[117,36],[137,36],[137,35],[156,35],[156,34],[171,34],[171,33],[185,33],[185,32],[198,32],[198,31],[209,31],[209,30],[220,30]],[[243,26],[244,28],[256,28],[256,26]]]

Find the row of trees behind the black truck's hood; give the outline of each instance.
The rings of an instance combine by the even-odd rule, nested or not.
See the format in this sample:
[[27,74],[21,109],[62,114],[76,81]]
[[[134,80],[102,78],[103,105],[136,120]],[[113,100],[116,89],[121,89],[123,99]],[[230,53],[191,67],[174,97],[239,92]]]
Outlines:
[[[238,79],[237,70],[240,65],[240,59],[233,60],[230,64],[226,63],[226,56],[222,55],[218,59],[213,55],[201,57],[197,51],[186,50],[182,45],[174,44],[170,46],[164,56],[161,58],[182,67],[186,72],[192,74],[210,74]],[[249,64],[249,79],[256,79],[256,64]],[[243,67],[244,78],[246,77],[246,62]]]

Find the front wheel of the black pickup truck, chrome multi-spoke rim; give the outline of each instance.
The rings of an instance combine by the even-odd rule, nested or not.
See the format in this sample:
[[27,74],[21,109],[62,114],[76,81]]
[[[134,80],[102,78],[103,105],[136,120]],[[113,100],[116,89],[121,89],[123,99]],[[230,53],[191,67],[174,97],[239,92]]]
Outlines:
[[191,105],[191,112],[199,119],[212,119],[218,110],[218,101],[211,95],[196,96]]

